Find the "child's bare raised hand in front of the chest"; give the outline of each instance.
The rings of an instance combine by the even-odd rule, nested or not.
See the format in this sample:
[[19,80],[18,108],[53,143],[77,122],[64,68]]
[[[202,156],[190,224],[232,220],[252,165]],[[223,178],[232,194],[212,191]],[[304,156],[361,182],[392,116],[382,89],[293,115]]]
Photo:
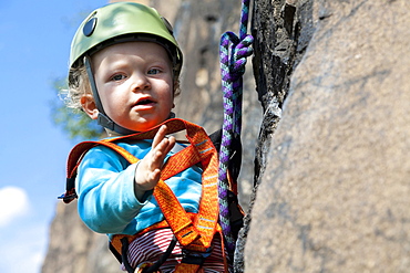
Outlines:
[[164,158],[175,145],[175,137],[166,138],[166,125],[160,127],[152,143],[151,151],[140,161],[135,171],[134,192],[142,199],[147,190],[152,190],[160,180]]

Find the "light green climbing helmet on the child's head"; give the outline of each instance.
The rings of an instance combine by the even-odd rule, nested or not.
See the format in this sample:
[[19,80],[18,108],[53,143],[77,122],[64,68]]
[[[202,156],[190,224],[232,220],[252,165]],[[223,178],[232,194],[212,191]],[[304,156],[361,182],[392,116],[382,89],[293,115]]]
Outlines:
[[94,10],[81,23],[71,43],[70,67],[109,45],[145,41],[158,43],[168,52],[180,74],[183,54],[168,21],[150,7],[134,2],[116,2]]

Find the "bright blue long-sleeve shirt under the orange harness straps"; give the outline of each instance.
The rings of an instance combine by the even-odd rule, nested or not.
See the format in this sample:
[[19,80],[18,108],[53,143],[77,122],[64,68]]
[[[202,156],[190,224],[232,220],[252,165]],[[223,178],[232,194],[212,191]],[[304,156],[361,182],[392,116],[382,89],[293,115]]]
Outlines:
[[[142,159],[151,150],[152,141],[116,144]],[[171,151],[168,156],[173,154]],[[164,219],[152,191],[145,192],[141,201],[135,197],[135,168],[136,164],[130,165],[105,146],[94,147],[85,154],[78,169],[75,189],[80,218],[91,230],[109,237],[135,234]],[[197,212],[201,180],[201,168],[193,166],[165,182],[187,212]]]

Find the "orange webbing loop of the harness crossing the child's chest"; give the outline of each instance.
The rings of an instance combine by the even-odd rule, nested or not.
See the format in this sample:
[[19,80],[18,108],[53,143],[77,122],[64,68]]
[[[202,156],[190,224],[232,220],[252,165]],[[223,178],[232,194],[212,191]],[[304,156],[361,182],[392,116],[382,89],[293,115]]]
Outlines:
[[[219,212],[217,197],[217,151],[202,127],[177,118],[168,119],[164,124],[166,124],[170,132],[178,132],[185,128],[187,133],[186,138],[191,143],[191,146],[188,146],[189,148],[186,151],[174,155],[173,157],[175,159],[171,159],[173,157],[170,158],[171,161],[164,166],[161,180],[154,188],[154,197],[178,242],[184,246],[189,244],[189,249],[205,251],[211,246],[212,239],[214,238]],[[153,134],[151,132],[156,132],[157,128],[133,135],[127,139],[143,139],[146,136],[152,137]],[[203,190],[198,213],[193,223],[175,195],[163,180],[172,174],[177,174],[195,165],[198,160],[201,160],[203,166]],[[196,241],[193,242],[194,240]]]

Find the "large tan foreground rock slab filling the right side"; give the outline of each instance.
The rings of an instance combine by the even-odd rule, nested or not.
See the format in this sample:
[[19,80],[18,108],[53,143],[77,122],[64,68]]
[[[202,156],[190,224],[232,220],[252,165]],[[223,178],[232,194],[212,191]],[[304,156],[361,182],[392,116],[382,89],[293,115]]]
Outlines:
[[314,34],[289,77],[245,271],[408,272],[410,4],[311,2],[295,3],[311,7]]

